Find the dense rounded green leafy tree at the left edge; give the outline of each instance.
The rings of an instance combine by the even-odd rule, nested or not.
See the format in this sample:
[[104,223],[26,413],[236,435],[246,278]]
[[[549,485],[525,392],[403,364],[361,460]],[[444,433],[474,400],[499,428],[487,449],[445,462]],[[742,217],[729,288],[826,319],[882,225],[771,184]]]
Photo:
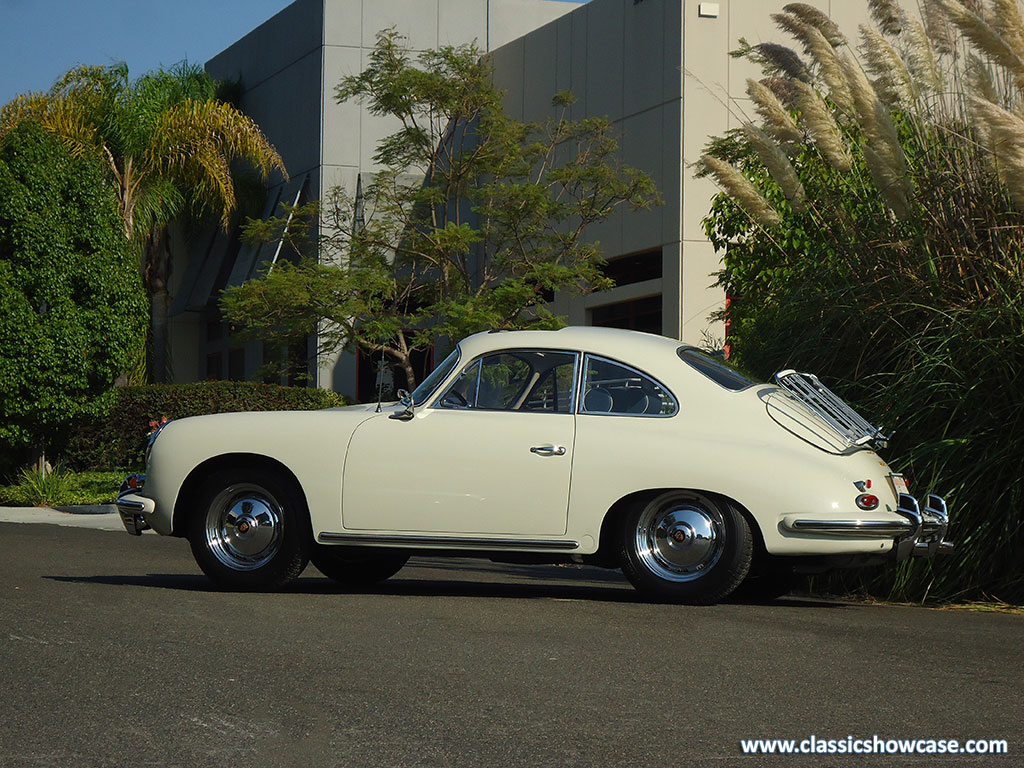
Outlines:
[[0,452],[42,447],[131,362],[145,294],[91,158],[32,121],[0,139]]

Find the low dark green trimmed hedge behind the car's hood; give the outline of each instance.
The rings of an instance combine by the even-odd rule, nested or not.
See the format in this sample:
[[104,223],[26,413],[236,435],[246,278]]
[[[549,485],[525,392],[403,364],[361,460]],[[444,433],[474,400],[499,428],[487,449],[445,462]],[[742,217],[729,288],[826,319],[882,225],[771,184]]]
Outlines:
[[142,468],[152,421],[239,411],[317,411],[346,404],[336,392],[253,382],[210,381],[151,384],[114,392],[103,415],[77,421],[61,463],[78,471]]

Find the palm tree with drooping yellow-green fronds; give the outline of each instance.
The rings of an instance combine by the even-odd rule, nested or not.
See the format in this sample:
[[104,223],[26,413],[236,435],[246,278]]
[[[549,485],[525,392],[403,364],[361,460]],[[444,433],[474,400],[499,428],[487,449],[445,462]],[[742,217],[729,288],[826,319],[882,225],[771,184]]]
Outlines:
[[274,169],[287,178],[259,126],[218,99],[216,90],[215,81],[187,62],[134,81],[120,62],[76,68],[48,92],[17,96],[0,110],[0,138],[35,119],[73,154],[93,156],[105,167],[150,294],[151,381],[167,375],[168,224],[186,211],[208,211],[226,229],[237,202],[236,160],[255,166],[264,179]]

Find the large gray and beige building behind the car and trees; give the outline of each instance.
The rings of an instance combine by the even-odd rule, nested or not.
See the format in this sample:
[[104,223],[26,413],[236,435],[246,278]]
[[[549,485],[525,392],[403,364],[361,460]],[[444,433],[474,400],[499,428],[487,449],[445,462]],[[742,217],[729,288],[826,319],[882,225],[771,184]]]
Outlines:
[[[785,0],[297,0],[207,63],[217,78],[240,78],[242,109],[264,129],[291,173],[270,190],[267,214],[292,202],[302,184],[309,199],[341,184],[355,188],[374,170],[380,138],[396,129],[360,104],[338,104],[334,88],[361,71],[380,30],[394,26],[417,50],[476,40],[489,51],[509,112],[524,120],[550,114],[551,97],[571,90],[572,118],[607,116],[621,133],[625,163],[649,173],[665,200],[651,211],[620,211],[591,227],[606,258],[659,253],[662,276],[582,298],[557,297],[556,309],[574,325],[634,300],[659,301],[660,332],[690,343],[721,342],[724,329],[709,315],[724,301],[714,287],[721,259],[705,238],[701,219],[717,191],[691,168],[708,139],[748,119],[745,81],[756,67],[729,56],[739,38],[752,44],[790,42],[770,13]],[[867,18],[865,0],[811,0],[852,35]],[[216,239],[215,239],[216,240]],[[200,247],[175,273],[173,343],[179,380],[206,378],[205,360],[228,341],[209,339],[196,321],[209,302],[224,239]],[[219,249],[219,250],[218,250]],[[255,273],[270,254],[242,249],[229,283]],[[220,259],[220,261],[218,261]],[[219,278],[223,280],[221,268]],[[197,345],[199,354],[188,351]],[[236,350],[236,355],[238,355]],[[245,368],[260,365],[258,345]],[[223,364],[226,365],[226,364]],[[317,383],[351,394],[351,355],[324,361]]]

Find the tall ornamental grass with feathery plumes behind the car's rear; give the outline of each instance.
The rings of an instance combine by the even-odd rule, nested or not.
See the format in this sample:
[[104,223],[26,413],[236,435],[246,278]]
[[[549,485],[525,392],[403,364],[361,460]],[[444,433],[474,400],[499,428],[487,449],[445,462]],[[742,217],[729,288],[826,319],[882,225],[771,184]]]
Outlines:
[[742,129],[700,173],[725,253],[730,352],[818,373],[874,423],[911,492],[952,513],[953,556],[841,573],[890,599],[1024,602],[1024,11],[870,0],[848,37],[792,3]]

